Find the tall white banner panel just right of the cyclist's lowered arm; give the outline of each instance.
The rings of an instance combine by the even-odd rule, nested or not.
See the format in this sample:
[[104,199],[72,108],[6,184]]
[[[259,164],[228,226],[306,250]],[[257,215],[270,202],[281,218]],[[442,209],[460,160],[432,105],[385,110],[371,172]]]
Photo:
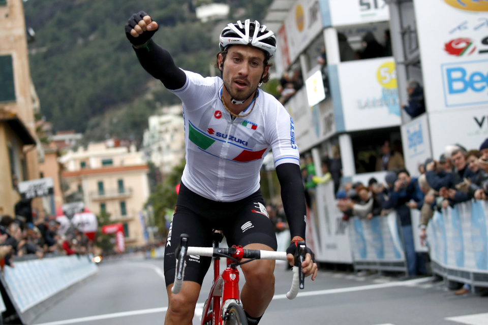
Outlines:
[[319,262],[352,263],[347,221],[336,206],[334,184],[318,185],[313,195],[307,225],[314,239],[315,258]]

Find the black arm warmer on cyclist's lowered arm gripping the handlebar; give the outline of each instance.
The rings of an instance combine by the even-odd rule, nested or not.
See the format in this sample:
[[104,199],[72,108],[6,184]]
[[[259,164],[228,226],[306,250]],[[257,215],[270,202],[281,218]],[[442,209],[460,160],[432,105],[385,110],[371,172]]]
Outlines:
[[291,238],[299,236],[305,239],[307,207],[300,167],[291,163],[281,164],[276,168],[276,174],[281,185],[281,200],[290,226]]

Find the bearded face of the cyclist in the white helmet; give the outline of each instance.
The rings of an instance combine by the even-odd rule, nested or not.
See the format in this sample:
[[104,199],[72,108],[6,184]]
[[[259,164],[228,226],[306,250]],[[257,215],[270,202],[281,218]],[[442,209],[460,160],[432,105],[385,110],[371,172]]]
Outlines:
[[[221,63],[222,55],[219,55],[219,65]],[[264,67],[263,51],[251,46],[233,45],[227,50],[222,79],[231,97],[244,101],[256,91],[268,69]]]

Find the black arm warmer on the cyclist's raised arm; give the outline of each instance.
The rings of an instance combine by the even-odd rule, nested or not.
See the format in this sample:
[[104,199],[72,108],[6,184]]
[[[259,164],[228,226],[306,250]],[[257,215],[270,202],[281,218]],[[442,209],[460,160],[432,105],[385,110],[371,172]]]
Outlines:
[[185,72],[176,67],[171,54],[153,40],[150,40],[146,46],[134,50],[142,68],[151,76],[161,80],[167,89],[179,89],[185,85],[187,81]]

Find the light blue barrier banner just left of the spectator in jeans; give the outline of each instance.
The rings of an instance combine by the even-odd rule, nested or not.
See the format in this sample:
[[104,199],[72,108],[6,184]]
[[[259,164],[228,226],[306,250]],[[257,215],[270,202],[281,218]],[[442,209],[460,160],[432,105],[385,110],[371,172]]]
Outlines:
[[395,212],[371,220],[354,217],[349,223],[354,263],[405,261]]

